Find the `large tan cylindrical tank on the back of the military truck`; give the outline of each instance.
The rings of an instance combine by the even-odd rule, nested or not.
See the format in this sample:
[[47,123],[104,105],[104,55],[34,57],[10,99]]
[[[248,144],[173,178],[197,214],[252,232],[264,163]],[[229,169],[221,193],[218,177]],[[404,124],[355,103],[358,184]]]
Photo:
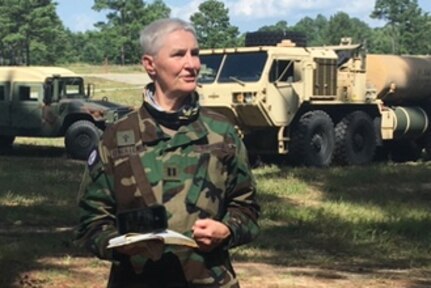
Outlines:
[[431,100],[431,56],[367,55],[367,85],[387,105]]

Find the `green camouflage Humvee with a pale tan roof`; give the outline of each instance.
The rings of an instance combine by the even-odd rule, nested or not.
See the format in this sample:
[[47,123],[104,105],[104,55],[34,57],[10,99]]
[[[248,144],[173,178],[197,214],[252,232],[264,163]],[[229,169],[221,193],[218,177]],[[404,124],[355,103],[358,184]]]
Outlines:
[[59,67],[0,67],[0,148],[15,137],[65,137],[68,155],[86,159],[109,121],[129,107],[90,100],[94,85]]

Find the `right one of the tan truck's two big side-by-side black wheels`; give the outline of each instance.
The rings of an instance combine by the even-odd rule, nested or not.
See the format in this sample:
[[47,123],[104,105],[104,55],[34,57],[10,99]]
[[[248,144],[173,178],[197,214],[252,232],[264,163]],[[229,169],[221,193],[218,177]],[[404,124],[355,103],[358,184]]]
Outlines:
[[375,151],[374,123],[365,112],[352,112],[335,126],[334,161],[338,164],[362,165],[370,163]]

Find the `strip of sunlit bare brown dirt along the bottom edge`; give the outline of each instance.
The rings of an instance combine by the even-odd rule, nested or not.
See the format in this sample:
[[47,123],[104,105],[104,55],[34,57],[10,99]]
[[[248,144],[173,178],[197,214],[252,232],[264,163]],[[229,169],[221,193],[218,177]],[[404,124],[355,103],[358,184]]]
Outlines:
[[[109,263],[92,258],[46,258],[44,267],[20,276],[22,288],[104,288]],[[234,263],[242,288],[427,288],[430,275],[412,270],[345,272],[311,267],[280,267],[263,263]],[[67,271],[67,273],[65,273]]]

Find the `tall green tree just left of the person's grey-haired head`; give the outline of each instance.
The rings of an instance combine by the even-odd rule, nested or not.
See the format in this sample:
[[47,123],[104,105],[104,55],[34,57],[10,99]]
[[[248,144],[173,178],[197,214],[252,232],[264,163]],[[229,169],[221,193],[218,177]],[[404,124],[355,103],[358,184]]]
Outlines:
[[102,32],[103,42],[109,43],[103,48],[106,58],[122,65],[139,61],[139,31],[150,22],[170,14],[162,0],[150,5],[142,0],[95,0],[93,9],[110,11],[108,21],[99,22],[96,26]]

